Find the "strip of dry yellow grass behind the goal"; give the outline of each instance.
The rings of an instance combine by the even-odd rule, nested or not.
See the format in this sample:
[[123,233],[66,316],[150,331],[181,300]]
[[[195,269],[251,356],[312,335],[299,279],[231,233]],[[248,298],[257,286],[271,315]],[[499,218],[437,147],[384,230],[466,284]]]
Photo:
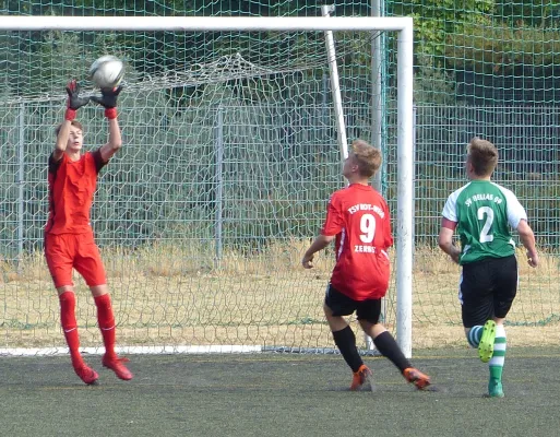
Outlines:
[[[300,258],[309,241],[271,244],[258,255],[212,248],[152,246],[106,250],[109,285],[121,345],[246,344],[332,347],[321,304],[333,257],[322,253],[311,271]],[[457,287],[460,269],[439,250],[421,249],[414,263],[414,347],[466,347]],[[19,269],[0,264],[2,347],[63,346],[56,292],[41,253]],[[395,284],[386,299],[386,324],[395,323]],[[557,345],[560,316],[558,261],[543,256],[534,270],[520,252],[520,291],[510,314],[511,345]],[[75,276],[82,345],[97,346],[93,299]],[[358,336],[360,338],[360,336]]]

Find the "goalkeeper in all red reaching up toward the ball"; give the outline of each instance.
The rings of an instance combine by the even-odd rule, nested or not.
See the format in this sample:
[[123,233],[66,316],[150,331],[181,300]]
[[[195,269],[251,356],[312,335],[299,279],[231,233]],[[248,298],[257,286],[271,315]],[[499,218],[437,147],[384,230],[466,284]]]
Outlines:
[[[102,90],[102,97],[80,97],[78,83],[71,81],[68,84],[64,121],[57,128],[57,144],[48,164],[49,217],[45,226],[45,257],[58,291],[60,321],[72,366],[87,385],[95,383],[99,376],[84,363],[79,351],[72,269],[84,277],[97,307],[97,321],[105,345],[103,365],[112,369],[120,379],[132,379],[132,374],[122,364],[126,358],[119,358],[115,352],[111,299],[105,267],[90,223],[97,175],[122,143],[117,121],[117,96],[120,91],[120,87]],[[75,115],[90,99],[105,107],[109,140],[94,152],[82,153],[83,128],[75,120]]]

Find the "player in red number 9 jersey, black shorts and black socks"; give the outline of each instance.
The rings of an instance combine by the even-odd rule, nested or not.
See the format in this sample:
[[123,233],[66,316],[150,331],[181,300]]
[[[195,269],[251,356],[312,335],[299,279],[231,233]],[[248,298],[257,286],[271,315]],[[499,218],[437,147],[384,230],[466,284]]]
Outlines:
[[421,390],[430,385],[430,378],[410,365],[393,335],[379,322],[381,298],[389,287],[388,249],[393,245],[386,201],[369,186],[370,177],[380,166],[379,149],[361,140],[353,142],[343,167],[349,186],[331,196],[321,235],[306,251],[301,263],[311,269],[314,253],[335,240],[336,264],[323,309],[334,342],[354,373],[350,390],[358,390],[371,376],[356,347],[356,335],[343,317],[354,311],[378,351]]

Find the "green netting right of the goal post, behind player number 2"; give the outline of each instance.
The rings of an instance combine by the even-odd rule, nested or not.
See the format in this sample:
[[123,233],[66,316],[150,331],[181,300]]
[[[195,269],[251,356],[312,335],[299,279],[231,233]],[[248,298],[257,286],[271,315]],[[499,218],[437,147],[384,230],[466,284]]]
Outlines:
[[[525,206],[543,256],[543,264],[532,270],[519,251],[520,284],[508,316],[509,342],[558,343],[559,227],[552,203],[559,190],[558,5],[384,3],[388,15],[417,19],[415,327],[438,327],[464,342],[455,297],[460,271],[432,249],[446,196],[465,184],[465,144],[478,135],[498,146],[493,179],[513,190]],[[428,343],[436,345],[444,336],[432,335],[436,340]],[[439,343],[452,342],[444,340]],[[417,341],[422,340],[415,336]]]

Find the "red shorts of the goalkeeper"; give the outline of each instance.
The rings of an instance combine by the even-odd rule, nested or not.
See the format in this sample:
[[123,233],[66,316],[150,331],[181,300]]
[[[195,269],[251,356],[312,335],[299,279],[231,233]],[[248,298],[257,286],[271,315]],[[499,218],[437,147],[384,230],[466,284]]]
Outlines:
[[93,233],[47,234],[45,258],[57,288],[74,285],[72,269],[75,269],[88,286],[107,283],[105,267]]

